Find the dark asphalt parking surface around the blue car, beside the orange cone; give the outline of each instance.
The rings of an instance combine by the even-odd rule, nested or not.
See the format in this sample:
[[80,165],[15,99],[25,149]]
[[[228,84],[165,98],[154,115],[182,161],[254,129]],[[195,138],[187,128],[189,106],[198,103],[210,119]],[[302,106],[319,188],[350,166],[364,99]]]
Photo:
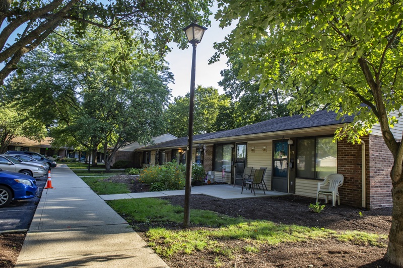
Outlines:
[[27,230],[31,225],[36,207],[38,206],[47,177],[36,178],[38,196],[31,199],[12,201],[5,208],[0,208],[0,232]]

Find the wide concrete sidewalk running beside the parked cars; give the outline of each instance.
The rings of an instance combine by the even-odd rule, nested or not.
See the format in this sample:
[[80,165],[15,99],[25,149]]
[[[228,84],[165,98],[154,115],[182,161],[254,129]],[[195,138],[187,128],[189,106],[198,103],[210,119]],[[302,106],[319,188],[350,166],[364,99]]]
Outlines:
[[51,179],[15,267],[168,267],[70,168]]

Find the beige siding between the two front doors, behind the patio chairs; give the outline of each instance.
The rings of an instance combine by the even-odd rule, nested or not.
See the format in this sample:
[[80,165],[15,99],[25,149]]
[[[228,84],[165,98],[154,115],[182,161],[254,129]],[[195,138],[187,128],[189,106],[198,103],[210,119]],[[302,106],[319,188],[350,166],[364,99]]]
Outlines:
[[[263,152],[263,146],[266,146],[266,151]],[[254,152],[251,148],[254,147]],[[272,153],[273,153],[273,141],[258,141],[258,142],[248,142],[248,154],[247,161],[248,166],[252,166],[252,175],[255,168],[267,167],[266,173],[264,174],[264,183],[268,190],[272,189]]]

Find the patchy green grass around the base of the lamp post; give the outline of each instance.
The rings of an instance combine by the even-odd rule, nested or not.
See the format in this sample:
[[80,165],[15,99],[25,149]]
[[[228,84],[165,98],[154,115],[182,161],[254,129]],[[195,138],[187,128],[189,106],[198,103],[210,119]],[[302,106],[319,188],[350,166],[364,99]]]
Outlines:
[[[168,201],[143,198],[113,200],[107,203],[132,226],[136,226],[137,223],[183,222],[183,208],[172,206]],[[336,232],[324,228],[276,224],[266,220],[246,220],[205,210],[191,210],[190,214],[192,225],[206,228],[185,230],[150,228],[147,232],[149,245],[159,255],[170,257],[174,254],[192,254],[205,249],[227,256],[236,254],[242,249],[258,253],[262,244],[276,245],[326,238],[379,247],[385,247],[387,242],[387,235],[359,231]],[[220,243],[228,239],[242,240],[246,243],[243,248],[229,248]]]

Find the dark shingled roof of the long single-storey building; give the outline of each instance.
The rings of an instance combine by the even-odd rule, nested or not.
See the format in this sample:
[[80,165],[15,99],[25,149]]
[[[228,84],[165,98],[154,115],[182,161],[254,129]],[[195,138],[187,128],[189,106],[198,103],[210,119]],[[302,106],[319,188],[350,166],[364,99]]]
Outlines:
[[[331,126],[338,125],[342,123],[351,123],[353,122],[353,116],[345,116],[342,119],[336,119],[337,114],[334,112],[327,111],[318,111],[315,112],[310,117],[302,117],[302,115],[294,115],[287,117],[274,118],[270,120],[266,120],[263,122],[259,122],[256,124],[231,129],[218,131],[213,133],[199,134],[193,136],[193,144],[198,140],[213,140],[213,139],[223,139],[236,136],[245,136],[245,135],[253,135],[260,133],[271,133],[271,132],[280,132],[287,131],[293,129],[304,129],[304,128],[313,128],[313,127],[323,127],[323,126]],[[156,144],[153,146],[147,146],[143,149],[153,149],[153,148],[167,148],[167,147],[180,147],[187,145],[187,137],[181,137],[178,139],[174,139],[171,141],[163,142],[160,144]]]

